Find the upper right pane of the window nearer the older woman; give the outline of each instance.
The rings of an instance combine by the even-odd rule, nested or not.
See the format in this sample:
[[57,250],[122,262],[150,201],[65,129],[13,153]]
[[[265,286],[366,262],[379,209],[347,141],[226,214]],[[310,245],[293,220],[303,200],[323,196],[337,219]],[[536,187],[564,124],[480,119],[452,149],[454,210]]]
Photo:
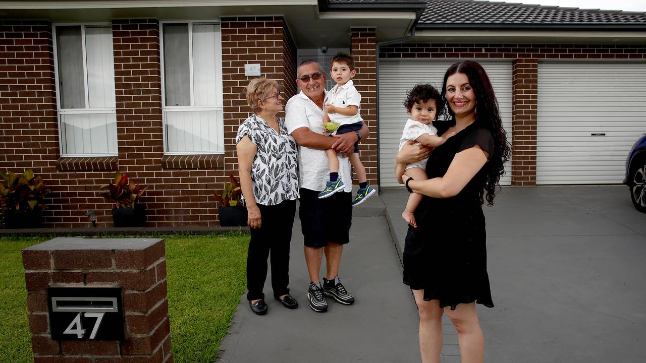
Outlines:
[[216,35],[219,25],[193,25],[194,105],[217,105]]

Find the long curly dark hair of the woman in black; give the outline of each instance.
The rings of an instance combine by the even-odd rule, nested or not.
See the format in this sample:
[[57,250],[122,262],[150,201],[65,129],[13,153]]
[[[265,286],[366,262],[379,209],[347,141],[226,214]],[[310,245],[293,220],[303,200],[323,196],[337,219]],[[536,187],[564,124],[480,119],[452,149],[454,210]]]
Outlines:
[[486,190],[486,200],[488,205],[494,204],[496,189],[500,188],[498,182],[500,177],[505,174],[505,162],[509,160],[510,148],[507,142],[507,134],[503,129],[503,121],[500,117],[498,100],[495,98],[494,87],[491,85],[489,76],[486,75],[485,69],[474,61],[459,61],[453,63],[444,74],[442,84],[442,99],[446,104],[446,112],[450,118],[455,119],[455,114],[446,101],[446,79],[452,74],[463,73],[469,79],[471,87],[475,93],[475,123],[488,129],[494,136],[494,151],[489,156],[489,167],[486,174],[485,188],[480,191],[480,202],[484,203],[483,196]]

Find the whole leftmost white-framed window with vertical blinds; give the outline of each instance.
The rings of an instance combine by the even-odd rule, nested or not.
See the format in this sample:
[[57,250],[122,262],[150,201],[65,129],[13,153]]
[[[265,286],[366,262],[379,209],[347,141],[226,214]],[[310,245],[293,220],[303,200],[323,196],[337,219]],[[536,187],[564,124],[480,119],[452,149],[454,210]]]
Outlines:
[[112,25],[54,26],[62,156],[117,152]]

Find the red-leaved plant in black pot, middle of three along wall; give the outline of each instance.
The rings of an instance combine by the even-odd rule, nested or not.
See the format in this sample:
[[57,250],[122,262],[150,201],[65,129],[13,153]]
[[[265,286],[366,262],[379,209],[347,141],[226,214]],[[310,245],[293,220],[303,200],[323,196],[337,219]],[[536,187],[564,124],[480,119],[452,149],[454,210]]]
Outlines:
[[116,172],[114,182],[101,187],[101,196],[113,203],[112,222],[114,227],[145,227],[146,211],[139,202],[147,186],[141,187],[128,179],[127,174]]

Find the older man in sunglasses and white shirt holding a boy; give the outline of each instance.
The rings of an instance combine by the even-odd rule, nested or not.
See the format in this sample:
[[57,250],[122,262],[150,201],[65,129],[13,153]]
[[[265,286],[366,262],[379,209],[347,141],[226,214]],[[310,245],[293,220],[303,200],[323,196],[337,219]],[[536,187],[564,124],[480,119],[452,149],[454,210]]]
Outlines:
[[[323,134],[323,100],[326,74],[315,61],[304,61],[298,66],[300,93],[287,101],[285,124],[300,145],[298,153],[298,181],[300,207],[298,216],[304,236],[305,260],[309,273],[307,300],[318,312],[328,310],[326,295],[340,304],[349,305],[355,298],[339,280],[339,264],[343,245],[349,242],[352,224],[352,171],[348,158],[339,156],[339,177],[346,182],[344,191],[325,199],[318,193],[325,188],[328,159],[325,149],[335,149],[345,155],[354,150],[354,143],[368,136],[368,127],[348,132],[340,137]],[[320,265],[326,256],[327,274],[320,284]]]

